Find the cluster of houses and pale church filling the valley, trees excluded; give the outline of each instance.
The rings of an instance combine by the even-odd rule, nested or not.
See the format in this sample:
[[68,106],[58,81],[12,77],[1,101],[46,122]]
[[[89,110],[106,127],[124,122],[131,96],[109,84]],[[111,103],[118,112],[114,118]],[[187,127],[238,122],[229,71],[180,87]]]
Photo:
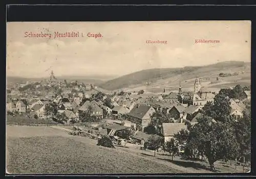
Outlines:
[[[57,104],[57,112],[65,114],[68,118],[67,123],[71,120],[79,121],[79,113],[87,112],[89,107],[91,115],[98,118],[103,118],[103,111],[109,116],[125,116],[124,126],[131,126],[137,130],[135,137],[143,139],[147,135],[144,129],[151,123],[153,114],[157,111],[166,111],[171,122],[163,123],[161,126],[161,134],[165,141],[173,137],[175,133],[185,128],[185,122],[196,123],[197,118],[200,117],[200,110],[207,101],[214,101],[216,92],[210,92],[201,89],[200,80],[197,78],[194,84],[193,92],[182,91],[179,87],[178,93],[170,92],[168,95],[157,94],[105,94],[100,100],[86,100],[82,104],[83,98],[90,98],[93,94],[99,91],[92,85],[81,87],[77,84],[76,87],[80,92],[74,90],[65,90],[58,95],[48,95],[46,97],[31,97],[26,98],[27,104],[24,104],[22,98],[11,98],[7,101],[7,111],[17,113],[30,113],[37,115],[38,118],[46,118],[45,107],[48,103],[55,102]],[[245,91],[247,98],[250,100],[250,91]],[[70,95],[71,94],[71,95]],[[104,106],[104,100],[111,98],[112,107]],[[231,114],[243,115],[245,105],[241,101],[230,99],[230,106],[232,108]],[[110,127],[110,126],[109,126]],[[122,129],[118,125],[111,126],[116,130]],[[110,131],[109,131],[110,132]]]

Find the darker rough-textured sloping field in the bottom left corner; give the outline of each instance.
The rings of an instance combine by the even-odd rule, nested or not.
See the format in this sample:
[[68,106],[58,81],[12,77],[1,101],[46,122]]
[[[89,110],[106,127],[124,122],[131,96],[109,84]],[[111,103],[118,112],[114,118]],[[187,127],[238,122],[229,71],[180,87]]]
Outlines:
[[176,173],[156,162],[60,136],[9,138],[7,171],[15,174]]

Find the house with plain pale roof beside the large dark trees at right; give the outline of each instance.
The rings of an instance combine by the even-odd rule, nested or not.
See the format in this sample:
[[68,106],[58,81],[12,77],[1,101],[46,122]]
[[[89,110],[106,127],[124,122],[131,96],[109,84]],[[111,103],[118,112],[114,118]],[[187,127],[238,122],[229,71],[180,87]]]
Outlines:
[[164,143],[174,138],[174,135],[182,129],[187,129],[184,123],[162,123],[160,133],[164,137]]

